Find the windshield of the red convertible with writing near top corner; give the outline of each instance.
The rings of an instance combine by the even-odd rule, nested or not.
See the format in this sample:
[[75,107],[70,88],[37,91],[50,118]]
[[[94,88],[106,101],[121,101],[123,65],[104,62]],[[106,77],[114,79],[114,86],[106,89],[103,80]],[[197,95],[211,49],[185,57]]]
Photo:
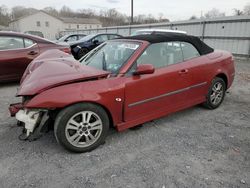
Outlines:
[[139,45],[138,42],[109,41],[92,50],[80,62],[116,74]]

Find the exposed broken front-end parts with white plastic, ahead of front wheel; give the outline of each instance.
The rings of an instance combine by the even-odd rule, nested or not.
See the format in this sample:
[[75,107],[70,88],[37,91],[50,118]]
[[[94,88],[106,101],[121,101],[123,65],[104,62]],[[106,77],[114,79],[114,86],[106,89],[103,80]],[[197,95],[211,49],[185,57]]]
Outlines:
[[41,130],[48,119],[48,110],[27,109],[21,104],[10,105],[9,110],[11,116],[15,116],[24,125],[23,134],[19,137],[21,140],[35,140],[42,135]]

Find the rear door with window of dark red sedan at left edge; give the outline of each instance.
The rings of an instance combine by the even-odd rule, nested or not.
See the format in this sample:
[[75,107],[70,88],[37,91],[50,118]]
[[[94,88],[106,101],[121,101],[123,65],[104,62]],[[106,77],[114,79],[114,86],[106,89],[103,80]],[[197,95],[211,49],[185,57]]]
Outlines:
[[39,54],[38,45],[27,38],[0,36],[0,79],[20,79],[28,64]]

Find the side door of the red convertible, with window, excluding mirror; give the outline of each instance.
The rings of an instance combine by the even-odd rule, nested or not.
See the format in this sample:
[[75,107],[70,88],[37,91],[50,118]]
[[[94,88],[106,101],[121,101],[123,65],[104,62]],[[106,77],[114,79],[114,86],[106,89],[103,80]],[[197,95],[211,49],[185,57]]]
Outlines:
[[[152,64],[153,74],[136,76],[138,64]],[[171,112],[186,104],[189,64],[183,62],[179,42],[151,44],[137,59],[125,83],[125,121]]]

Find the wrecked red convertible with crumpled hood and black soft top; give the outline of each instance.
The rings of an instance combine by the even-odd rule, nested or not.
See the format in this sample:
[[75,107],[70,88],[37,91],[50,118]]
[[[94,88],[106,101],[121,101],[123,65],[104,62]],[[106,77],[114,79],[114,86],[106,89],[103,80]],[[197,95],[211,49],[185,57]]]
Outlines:
[[186,34],[107,41],[80,63],[48,51],[26,69],[22,103],[10,112],[24,124],[21,139],[52,124],[64,148],[86,152],[104,143],[111,126],[122,131],[197,104],[217,108],[234,71],[230,53]]

